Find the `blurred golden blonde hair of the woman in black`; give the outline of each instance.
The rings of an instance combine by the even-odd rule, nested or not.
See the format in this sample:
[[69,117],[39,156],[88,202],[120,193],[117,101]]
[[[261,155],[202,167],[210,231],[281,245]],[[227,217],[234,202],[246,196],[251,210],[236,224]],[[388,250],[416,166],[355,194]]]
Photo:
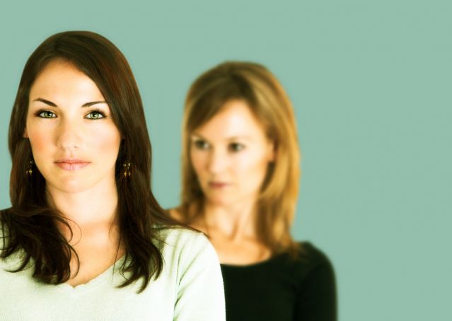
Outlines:
[[290,228],[299,192],[300,152],[294,110],[268,69],[252,62],[224,62],[192,83],[182,119],[182,195],[178,212],[185,223],[202,215],[204,195],[190,162],[190,135],[231,100],[243,100],[274,142],[275,158],[257,200],[256,230],[273,253],[296,250]]

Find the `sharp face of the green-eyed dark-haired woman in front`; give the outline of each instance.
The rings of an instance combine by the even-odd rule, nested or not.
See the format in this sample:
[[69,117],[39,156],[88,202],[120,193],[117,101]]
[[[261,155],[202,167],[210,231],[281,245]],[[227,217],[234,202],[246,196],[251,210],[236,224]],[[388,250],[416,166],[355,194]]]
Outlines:
[[115,184],[121,135],[95,83],[56,59],[30,88],[24,137],[47,190],[83,192]]

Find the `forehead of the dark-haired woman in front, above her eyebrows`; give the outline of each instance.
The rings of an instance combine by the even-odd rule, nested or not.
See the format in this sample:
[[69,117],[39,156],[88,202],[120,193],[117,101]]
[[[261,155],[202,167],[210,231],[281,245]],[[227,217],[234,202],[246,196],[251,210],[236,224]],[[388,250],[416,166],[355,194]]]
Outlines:
[[58,98],[81,94],[102,97],[98,86],[91,78],[83,74],[74,64],[63,59],[49,62],[37,75],[30,88],[30,98],[35,95]]

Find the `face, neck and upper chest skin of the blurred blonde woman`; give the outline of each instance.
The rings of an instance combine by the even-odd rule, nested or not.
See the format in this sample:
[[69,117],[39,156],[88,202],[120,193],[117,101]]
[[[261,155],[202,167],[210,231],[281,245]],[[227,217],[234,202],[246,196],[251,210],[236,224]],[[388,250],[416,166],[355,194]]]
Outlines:
[[[190,160],[204,192],[204,216],[192,227],[209,235],[223,264],[253,264],[270,249],[255,230],[255,209],[274,146],[242,100],[226,103],[191,136]],[[177,218],[178,214],[173,211]]]

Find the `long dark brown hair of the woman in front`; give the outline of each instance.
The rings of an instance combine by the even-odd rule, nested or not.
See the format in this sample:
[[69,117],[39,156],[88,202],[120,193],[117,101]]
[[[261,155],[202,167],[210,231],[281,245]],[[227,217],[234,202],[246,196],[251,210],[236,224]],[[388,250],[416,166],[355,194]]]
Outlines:
[[[142,278],[139,291],[143,291],[163,268],[161,251],[153,242],[158,232],[156,224],[170,226],[173,222],[151,192],[151,143],[132,70],[112,42],[88,31],[52,35],[35,49],[23,69],[9,124],[12,206],[0,216],[8,234],[0,257],[23,250],[22,264],[13,272],[33,262],[35,279],[60,284],[69,279],[69,262],[76,255],[57,228],[57,220],[66,221],[47,204],[45,178],[35,167],[31,177],[25,173],[33,160],[30,141],[23,137],[30,88],[40,71],[54,59],[66,60],[95,82],[123,137],[115,175],[120,238],[126,250],[122,272],[129,273],[121,286]],[[124,162],[131,164],[131,177],[122,175]],[[69,228],[67,223],[66,226]]]

